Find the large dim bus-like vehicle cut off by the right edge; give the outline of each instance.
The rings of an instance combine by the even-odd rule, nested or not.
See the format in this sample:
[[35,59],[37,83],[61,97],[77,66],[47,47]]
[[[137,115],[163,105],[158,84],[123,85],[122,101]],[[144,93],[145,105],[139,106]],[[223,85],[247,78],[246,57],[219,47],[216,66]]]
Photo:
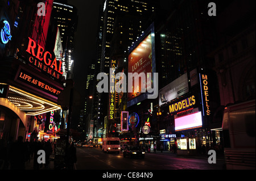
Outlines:
[[222,131],[226,169],[255,169],[255,99],[225,108]]

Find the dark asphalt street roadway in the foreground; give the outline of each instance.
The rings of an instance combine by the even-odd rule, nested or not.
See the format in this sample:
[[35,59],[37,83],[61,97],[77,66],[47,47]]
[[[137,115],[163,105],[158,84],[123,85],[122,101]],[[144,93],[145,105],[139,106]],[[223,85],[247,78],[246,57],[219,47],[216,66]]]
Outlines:
[[146,153],[144,159],[123,158],[122,151],[103,153],[100,148],[76,147],[77,170],[222,170],[224,160],[209,164],[205,158],[177,157],[176,155]]

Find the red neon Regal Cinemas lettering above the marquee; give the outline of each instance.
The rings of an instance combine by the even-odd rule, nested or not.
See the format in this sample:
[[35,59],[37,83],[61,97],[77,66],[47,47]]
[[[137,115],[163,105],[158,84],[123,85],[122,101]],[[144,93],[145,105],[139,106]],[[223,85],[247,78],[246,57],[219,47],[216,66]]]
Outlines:
[[52,77],[60,79],[60,76],[63,74],[63,71],[61,71],[62,62],[57,61],[56,57],[52,60],[51,53],[44,51],[44,48],[39,44],[36,44],[36,42],[30,37],[28,37],[28,39],[29,42],[26,52],[31,54],[31,57],[28,59],[29,62],[37,68],[52,75]]

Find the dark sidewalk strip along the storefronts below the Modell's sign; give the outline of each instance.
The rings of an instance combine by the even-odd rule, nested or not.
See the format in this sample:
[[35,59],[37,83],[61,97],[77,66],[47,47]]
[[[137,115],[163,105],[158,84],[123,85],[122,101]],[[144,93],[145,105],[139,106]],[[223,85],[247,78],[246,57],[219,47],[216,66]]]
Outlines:
[[[178,155],[175,153],[172,153],[171,151],[159,151],[156,150],[156,153],[154,153],[154,151],[150,151],[150,153],[148,153],[146,151],[146,154],[158,154],[158,155],[168,155],[168,156],[172,156],[172,157],[185,157],[185,158],[200,158],[200,159],[208,159],[210,155]],[[216,155],[216,159],[220,159],[220,160],[224,160],[224,155]]]

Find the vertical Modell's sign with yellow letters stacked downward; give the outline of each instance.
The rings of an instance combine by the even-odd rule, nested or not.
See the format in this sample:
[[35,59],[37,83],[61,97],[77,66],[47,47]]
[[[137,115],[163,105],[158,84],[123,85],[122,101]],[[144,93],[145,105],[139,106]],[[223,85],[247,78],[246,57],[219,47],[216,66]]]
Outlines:
[[201,83],[201,96],[202,101],[204,102],[203,111],[204,114],[210,115],[210,106],[209,106],[209,79],[206,74],[200,75],[200,83]]

